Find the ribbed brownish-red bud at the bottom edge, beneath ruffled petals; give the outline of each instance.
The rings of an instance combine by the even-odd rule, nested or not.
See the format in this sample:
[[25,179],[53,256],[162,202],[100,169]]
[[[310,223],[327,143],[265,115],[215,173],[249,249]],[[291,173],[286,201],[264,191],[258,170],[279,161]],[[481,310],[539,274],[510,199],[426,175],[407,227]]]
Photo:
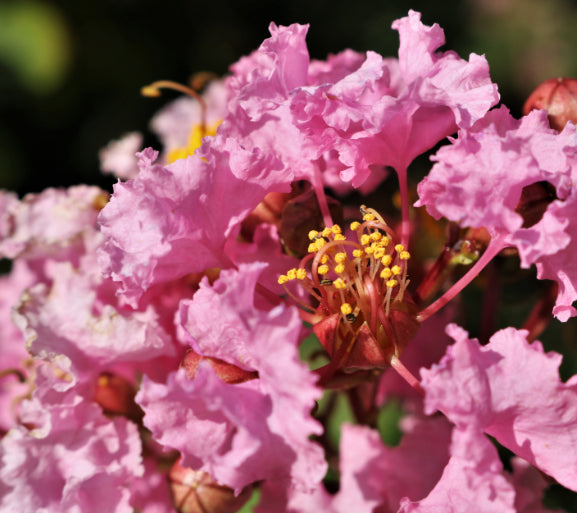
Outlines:
[[168,474],[174,507],[179,513],[234,513],[246,503],[251,487],[235,497],[232,488],[216,483],[209,474],[176,462]]

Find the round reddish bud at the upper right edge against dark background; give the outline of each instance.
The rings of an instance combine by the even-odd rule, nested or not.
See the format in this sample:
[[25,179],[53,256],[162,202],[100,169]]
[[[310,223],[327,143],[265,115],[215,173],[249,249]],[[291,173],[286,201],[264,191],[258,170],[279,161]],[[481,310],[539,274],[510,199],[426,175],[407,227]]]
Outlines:
[[559,132],[567,121],[577,124],[577,79],[551,78],[539,84],[527,98],[523,114],[533,109],[545,109],[551,128]]

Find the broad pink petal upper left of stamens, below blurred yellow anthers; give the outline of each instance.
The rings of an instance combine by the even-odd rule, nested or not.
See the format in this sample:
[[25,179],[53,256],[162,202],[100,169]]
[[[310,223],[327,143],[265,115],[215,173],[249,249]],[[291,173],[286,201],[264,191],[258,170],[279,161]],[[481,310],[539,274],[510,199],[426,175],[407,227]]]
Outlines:
[[154,283],[228,267],[223,249],[234,227],[268,192],[290,183],[277,160],[232,139],[212,138],[167,167],[153,164],[152,150],[140,155],[139,175],[116,184],[99,217],[101,265],[133,306]]

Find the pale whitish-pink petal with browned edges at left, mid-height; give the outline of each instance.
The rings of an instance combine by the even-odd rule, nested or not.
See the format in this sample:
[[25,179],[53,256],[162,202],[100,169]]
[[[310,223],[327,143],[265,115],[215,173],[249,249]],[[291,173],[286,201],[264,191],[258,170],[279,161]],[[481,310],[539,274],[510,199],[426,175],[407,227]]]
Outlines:
[[29,351],[41,359],[64,354],[89,375],[121,362],[174,355],[172,341],[150,306],[122,312],[98,297],[101,279],[62,263],[51,287],[30,288],[16,311]]

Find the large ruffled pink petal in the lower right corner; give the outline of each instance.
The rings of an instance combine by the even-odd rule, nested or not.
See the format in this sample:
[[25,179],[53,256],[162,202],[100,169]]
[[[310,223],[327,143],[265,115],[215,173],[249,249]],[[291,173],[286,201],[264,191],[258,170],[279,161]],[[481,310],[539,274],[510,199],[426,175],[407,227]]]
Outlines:
[[577,378],[559,378],[561,355],[507,328],[480,346],[450,325],[447,355],[422,370],[425,409],[486,431],[559,483],[577,490]]

